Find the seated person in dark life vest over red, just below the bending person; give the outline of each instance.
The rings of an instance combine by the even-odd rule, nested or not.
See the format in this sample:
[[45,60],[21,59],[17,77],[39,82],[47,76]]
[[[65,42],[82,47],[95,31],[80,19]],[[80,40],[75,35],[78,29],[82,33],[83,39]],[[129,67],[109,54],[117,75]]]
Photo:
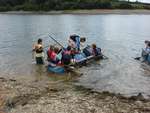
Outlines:
[[72,51],[71,46],[68,46],[66,50],[62,52],[61,62],[63,65],[69,65],[72,59]]

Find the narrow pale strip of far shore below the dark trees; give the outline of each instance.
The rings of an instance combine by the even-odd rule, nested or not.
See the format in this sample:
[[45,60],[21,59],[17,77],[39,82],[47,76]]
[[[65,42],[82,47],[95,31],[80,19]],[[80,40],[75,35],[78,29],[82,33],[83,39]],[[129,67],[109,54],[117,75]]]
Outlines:
[[55,15],[55,14],[150,14],[150,10],[108,10],[108,9],[93,9],[93,10],[62,10],[62,11],[8,11],[0,12],[0,14],[17,14],[17,15],[28,15],[28,14],[43,14],[43,15]]

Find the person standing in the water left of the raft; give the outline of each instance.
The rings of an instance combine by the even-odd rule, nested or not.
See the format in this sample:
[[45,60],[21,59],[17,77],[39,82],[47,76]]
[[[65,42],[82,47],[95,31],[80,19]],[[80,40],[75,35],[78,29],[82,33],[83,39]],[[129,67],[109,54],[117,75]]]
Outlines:
[[35,52],[36,64],[44,64],[42,39],[38,39],[37,44],[33,46],[33,52]]

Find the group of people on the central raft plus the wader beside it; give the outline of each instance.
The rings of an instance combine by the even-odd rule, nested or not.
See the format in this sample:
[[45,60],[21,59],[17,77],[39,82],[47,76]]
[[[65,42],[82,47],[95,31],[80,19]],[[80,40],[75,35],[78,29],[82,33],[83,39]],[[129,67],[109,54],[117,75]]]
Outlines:
[[[101,53],[101,49],[97,48],[96,44],[90,46],[85,45],[86,38],[78,35],[71,35],[68,39],[68,46],[56,47],[50,45],[47,50],[48,62],[55,65],[69,65],[70,63],[76,62],[75,56],[82,54],[82,56],[97,56]],[[35,51],[35,59],[37,64],[44,64],[44,48],[42,46],[42,39],[38,39],[37,44],[33,46]]]

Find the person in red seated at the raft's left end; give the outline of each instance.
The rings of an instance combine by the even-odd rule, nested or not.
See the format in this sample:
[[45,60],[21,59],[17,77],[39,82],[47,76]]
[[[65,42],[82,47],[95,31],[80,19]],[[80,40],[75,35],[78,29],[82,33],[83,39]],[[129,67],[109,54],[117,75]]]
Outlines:
[[60,59],[58,58],[59,48],[50,45],[50,48],[47,51],[48,61],[53,64],[58,64]]

